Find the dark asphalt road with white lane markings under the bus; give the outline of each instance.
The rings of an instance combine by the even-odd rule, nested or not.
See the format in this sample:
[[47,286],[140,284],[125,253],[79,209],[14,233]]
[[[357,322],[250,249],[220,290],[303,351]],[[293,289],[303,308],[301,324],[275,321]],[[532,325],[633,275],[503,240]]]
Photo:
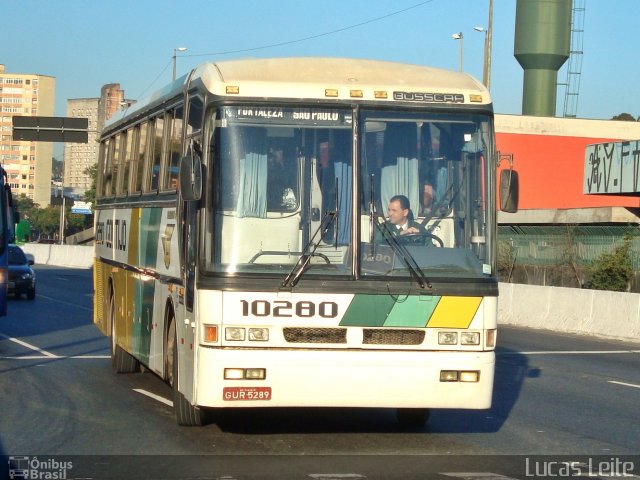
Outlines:
[[560,461],[640,475],[640,343],[503,327],[493,407],[435,410],[420,430],[391,410],[305,408],[185,428],[156,376],[111,373],[91,271],[36,271],[36,299],[0,319],[0,478],[25,462],[41,478],[527,478]]

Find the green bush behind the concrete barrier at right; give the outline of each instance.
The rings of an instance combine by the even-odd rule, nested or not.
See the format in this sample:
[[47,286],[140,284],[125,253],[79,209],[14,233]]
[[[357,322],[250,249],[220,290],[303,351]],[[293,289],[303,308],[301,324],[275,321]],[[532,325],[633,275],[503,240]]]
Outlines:
[[626,292],[633,276],[631,264],[632,237],[626,235],[622,245],[611,253],[604,253],[591,265],[591,285],[594,290]]

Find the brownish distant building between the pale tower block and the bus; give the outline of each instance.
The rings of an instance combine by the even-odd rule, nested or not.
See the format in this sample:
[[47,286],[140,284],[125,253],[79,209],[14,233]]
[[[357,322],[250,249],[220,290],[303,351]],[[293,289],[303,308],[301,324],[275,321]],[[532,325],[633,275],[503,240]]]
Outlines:
[[124,90],[119,83],[104,85],[99,98],[67,100],[67,117],[89,120],[88,143],[66,143],[64,146],[65,194],[81,199],[91,187],[88,167],[98,162],[98,141],[104,123],[122,108]]

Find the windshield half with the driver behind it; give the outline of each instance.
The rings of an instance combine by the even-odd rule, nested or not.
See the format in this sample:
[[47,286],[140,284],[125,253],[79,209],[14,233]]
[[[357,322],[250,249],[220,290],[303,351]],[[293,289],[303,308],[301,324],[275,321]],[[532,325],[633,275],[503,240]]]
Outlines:
[[491,124],[474,114],[365,111],[360,244],[365,276],[492,273]]

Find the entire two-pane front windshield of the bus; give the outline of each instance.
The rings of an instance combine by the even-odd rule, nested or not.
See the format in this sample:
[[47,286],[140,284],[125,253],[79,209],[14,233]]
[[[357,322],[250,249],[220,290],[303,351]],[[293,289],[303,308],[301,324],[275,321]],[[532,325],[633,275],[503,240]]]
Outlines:
[[305,278],[494,273],[489,115],[224,106],[210,120],[208,270],[286,277],[304,257]]

